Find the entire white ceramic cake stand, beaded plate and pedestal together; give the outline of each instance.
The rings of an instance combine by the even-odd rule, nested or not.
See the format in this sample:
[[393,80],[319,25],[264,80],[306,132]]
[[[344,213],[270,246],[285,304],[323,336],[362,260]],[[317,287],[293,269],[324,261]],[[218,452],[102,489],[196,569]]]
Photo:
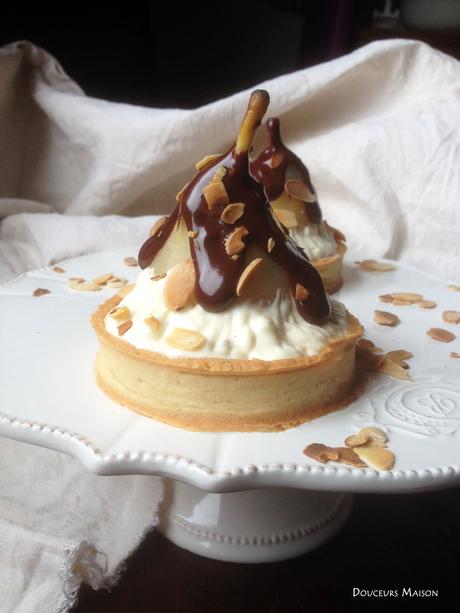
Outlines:
[[[65,273],[47,268],[0,288],[1,434],[68,453],[98,474],[166,477],[163,533],[201,555],[238,562],[281,560],[318,546],[346,521],[353,492],[419,492],[460,482],[460,360],[450,357],[460,353],[460,341],[426,335],[431,327],[456,331],[441,319],[443,310],[460,310],[460,292],[449,291],[448,282],[401,265],[386,273],[346,267],[337,298],[378,346],[414,353],[413,381],[373,374],[346,409],[285,432],[188,432],[117,405],[94,383],[98,342],[89,317],[114,290],[77,293],[66,281],[106,272],[134,280],[138,270],[123,258],[135,253],[77,258],[60,264]],[[51,293],[32,297],[39,287]],[[395,291],[421,293],[438,307],[379,302],[379,294]],[[400,325],[373,323],[376,308],[397,313]],[[302,453],[313,442],[342,445],[367,425],[387,431],[392,470],[321,465]]]

